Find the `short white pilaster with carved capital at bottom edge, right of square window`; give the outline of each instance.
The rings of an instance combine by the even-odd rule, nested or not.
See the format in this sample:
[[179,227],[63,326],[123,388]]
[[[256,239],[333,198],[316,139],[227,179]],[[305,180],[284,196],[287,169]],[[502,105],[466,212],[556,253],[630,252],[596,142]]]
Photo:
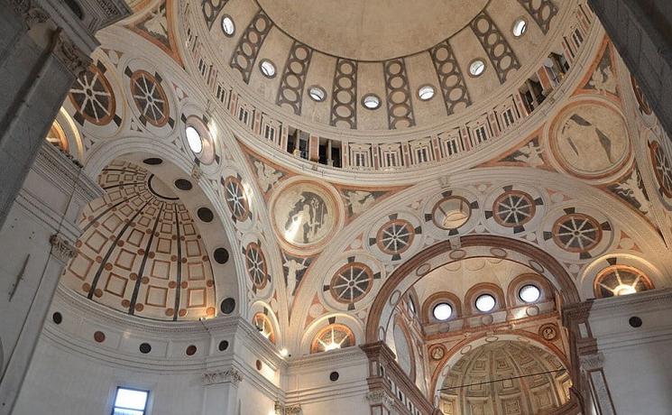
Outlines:
[[238,384],[242,381],[243,375],[234,368],[203,374],[206,388],[203,415],[238,413]]

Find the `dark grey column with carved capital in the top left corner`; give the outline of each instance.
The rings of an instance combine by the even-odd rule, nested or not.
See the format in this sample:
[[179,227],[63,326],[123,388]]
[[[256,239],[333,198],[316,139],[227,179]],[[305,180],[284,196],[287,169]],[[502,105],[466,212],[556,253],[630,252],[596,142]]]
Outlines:
[[0,227],[95,32],[129,14],[123,0],[0,0]]

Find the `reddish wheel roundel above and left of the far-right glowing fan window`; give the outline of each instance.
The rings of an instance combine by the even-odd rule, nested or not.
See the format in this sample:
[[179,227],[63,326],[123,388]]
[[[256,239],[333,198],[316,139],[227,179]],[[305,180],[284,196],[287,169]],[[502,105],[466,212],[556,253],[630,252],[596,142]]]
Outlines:
[[602,241],[602,227],[594,217],[573,213],[560,217],[553,226],[553,240],[570,253],[585,253]]

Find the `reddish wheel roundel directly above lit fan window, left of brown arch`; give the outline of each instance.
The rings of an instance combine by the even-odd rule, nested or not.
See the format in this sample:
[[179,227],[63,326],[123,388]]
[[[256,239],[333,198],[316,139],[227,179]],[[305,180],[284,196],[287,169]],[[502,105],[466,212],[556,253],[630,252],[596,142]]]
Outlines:
[[332,277],[329,291],[336,301],[354,304],[373,286],[373,271],[364,263],[347,263]]

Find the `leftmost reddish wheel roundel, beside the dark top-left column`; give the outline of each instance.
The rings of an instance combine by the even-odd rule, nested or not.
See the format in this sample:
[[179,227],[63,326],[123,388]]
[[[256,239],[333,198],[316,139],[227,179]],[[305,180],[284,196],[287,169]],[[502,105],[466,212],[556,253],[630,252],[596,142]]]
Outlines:
[[90,66],[75,80],[69,93],[70,101],[91,124],[106,125],[115,116],[115,94],[103,72]]

